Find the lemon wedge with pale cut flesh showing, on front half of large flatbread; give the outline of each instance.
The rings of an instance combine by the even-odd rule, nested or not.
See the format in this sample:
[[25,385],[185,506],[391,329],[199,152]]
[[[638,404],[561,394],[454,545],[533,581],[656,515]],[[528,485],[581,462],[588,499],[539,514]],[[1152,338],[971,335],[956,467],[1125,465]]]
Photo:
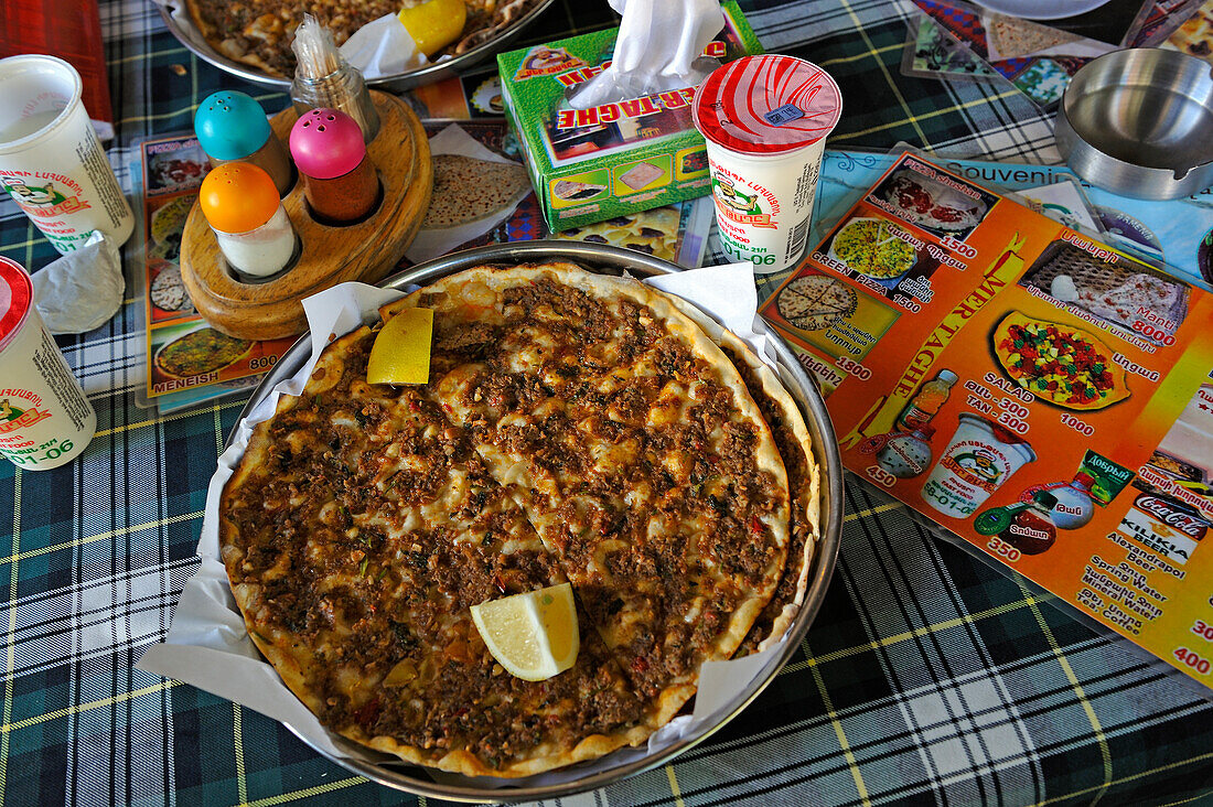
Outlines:
[[568,582],[472,606],[472,621],[492,658],[523,681],[564,672],[581,647]]

